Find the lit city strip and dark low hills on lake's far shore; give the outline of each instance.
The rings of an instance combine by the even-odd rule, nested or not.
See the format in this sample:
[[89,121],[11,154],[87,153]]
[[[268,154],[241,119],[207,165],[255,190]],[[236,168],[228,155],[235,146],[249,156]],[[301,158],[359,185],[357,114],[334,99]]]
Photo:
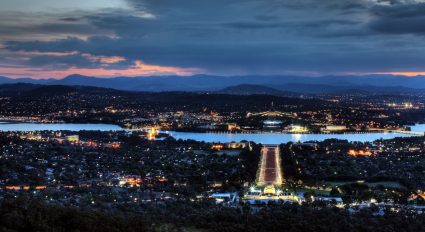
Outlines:
[[0,119],[200,132],[270,131],[273,123],[279,124],[274,132],[373,132],[424,122],[424,102],[420,93],[281,97],[10,84],[0,86]]

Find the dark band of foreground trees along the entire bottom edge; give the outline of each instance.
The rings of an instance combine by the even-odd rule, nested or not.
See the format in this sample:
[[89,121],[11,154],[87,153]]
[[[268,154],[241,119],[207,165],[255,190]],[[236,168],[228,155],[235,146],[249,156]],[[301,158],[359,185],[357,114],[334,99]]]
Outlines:
[[212,202],[146,206],[129,214],[81,210],[28,199],[3,201],[0,231],[423,231],[425,215],[408,211],[378,216],[296,205],[225,208]]

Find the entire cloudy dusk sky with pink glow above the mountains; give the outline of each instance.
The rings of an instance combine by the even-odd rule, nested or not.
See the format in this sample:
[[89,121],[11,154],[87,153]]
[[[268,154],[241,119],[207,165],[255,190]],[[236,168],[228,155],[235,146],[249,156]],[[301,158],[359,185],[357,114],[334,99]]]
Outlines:
[[424,35],[425,0],[1,0],[0,75],[415,75]]

